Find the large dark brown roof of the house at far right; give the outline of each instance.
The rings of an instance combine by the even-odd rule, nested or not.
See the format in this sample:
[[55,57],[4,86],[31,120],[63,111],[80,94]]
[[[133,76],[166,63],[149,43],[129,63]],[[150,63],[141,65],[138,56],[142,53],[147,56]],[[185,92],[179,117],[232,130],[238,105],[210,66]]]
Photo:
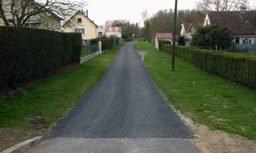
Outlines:
[[233,35],[256,34],[256,11],[211,11],[209,23],[227,25]]

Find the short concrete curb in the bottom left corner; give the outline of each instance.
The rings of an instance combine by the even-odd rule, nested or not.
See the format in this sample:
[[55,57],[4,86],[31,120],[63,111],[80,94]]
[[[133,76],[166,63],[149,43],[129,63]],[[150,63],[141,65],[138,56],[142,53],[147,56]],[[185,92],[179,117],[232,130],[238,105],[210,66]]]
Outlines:
[[2,151],[0,153],[23,153],[44,140],[45,137],[34,137],[30,140],[24,141],[23,143],[16,144],[8,150]]

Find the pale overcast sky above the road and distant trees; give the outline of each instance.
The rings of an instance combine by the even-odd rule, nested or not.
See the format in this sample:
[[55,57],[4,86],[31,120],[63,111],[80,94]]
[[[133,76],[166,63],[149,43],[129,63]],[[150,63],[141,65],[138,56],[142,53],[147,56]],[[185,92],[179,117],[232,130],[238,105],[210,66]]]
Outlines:
[[[86,1],[86,0],[84,0]],[[97,25],[104,25],[106,20],[126,19],[130,23],[139,23],[143,26],[141,13],[147,9],[149,15],[158,10],[175,8],[175,0],[87,0],[88,17]],[[194,9],[197,0],[178,0],[178,9]],[[249,0],[256,5],[256,0]]]

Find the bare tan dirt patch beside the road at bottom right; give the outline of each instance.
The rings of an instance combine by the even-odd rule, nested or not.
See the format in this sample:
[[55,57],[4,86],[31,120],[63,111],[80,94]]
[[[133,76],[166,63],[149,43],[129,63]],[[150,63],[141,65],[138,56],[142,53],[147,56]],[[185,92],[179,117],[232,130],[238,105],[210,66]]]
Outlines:
[[[173,108],[173,110],[175,110],[175,108]],[[176,111],[176,113],[194,133],[194,138],[188,140],[204,153],[256,152],[255,141],[248,140],[246,137],[238,136],[236,134],[225,133],[221,130],[212,130],[205,125],[197,125],[191,121],[190,118],[182,115],[179,111]]]

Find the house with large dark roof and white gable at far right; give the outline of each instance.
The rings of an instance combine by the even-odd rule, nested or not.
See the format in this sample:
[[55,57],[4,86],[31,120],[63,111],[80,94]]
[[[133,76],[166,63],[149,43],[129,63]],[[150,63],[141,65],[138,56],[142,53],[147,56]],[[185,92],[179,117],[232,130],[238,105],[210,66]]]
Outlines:
[[204,26],[206,25],[227,25],[231,28],[234,43],[256,43],[256,11],[211,11],[208,12]]

